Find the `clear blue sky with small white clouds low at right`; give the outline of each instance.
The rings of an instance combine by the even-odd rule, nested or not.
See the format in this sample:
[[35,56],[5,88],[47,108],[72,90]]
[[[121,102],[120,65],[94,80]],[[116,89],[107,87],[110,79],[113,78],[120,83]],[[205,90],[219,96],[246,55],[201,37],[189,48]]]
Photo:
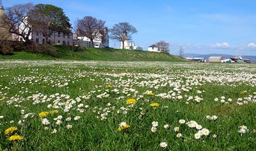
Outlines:
[[[74,24],[76,19],[92,16],[106,20],[112,28],[129,22],[138,29],[132,36],[136,45],[147,50],[159,40],[170,43],[170,53],[234,54],[256,56],[255,0],[2,0],[13,4],[43,3],[63,8]],[[110,47],[120,42],[111,41]]]

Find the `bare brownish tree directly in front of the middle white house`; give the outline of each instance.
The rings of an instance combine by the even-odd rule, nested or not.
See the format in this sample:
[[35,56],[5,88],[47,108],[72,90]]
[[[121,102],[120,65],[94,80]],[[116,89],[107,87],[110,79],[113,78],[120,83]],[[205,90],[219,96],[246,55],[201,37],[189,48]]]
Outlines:
[[[77,19],[76,33],[78,36],[86,36],[90,39],[93,46],[93,39],[102,39],[106,33],[105,21],[96,19],[92,16],[83,17],[83,19]],[[90,44],[91,46],[91,44]]]

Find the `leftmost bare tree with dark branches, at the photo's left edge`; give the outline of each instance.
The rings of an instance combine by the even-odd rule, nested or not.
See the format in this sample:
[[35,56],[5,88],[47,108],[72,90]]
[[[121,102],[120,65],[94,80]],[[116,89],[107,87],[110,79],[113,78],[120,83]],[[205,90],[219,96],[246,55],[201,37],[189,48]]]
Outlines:
[[33,4],[17,4],[6,9],[2,19],[5,24],[3,28],[22,37],[26,44],[31,44],[29,36],[31,35],[31,26],[28,23],[28,12],[33,8]]

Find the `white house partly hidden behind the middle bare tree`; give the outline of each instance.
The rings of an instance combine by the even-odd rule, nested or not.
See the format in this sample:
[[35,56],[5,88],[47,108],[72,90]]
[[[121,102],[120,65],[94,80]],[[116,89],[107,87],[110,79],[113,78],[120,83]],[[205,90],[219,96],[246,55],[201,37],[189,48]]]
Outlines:
[[[106,31],[108,32],[108,31]],[[93,39],[93,47],[109,47],[109,35],[108,33],[105,34],[104,42],[102,42],[102,35],[100,34],[98,38]],[[76,45],[86,46],[86,47],[92,47],[92,44],[90,44],[90,39],[86,36],[79,36],[77,33],[75,33],[74,41]]]

